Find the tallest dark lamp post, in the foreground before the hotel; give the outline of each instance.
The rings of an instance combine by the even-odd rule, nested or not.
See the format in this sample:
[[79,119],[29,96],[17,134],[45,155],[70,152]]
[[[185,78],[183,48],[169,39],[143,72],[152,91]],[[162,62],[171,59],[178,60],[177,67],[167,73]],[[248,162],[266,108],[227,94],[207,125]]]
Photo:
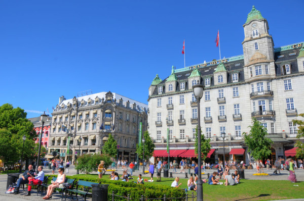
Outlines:
[[203,182],[202,182],[202,149],[201,149],[201,116],[200,116],[200,102],[203,96],[204,87],[203,85],[193,86],[194,96],[198,102],[198,164],[199,164],[199,179],[197,182],[197,200],[203,200]]

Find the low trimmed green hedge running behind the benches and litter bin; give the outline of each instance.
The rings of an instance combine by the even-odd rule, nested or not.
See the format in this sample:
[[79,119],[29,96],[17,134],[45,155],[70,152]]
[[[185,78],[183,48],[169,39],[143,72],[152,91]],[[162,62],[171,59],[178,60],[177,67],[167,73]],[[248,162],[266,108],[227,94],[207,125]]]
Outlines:
[[[114,194],[127,197],[130,194],[130,197],[133,200],[140,200],[141,195],[144,195],[145,198],[161,198],[164,197],[185,197],[186,193],[183,189],[174,188],[162,184],[149,183],[149,185],[136,184],[134,182],[124,182],[124,181],[113,181],[113,180],[104,180],[98,178],[87,178],[86,176],[75,175],[75,176],[66,176],[68,179],[84,180],[91,181],[102,184],[109,184],[108,186],[108,200],[112,199],[112,191]],[[51,181],[49,181],[50,183]],[[126,198],[115,197],[115,200],[126,201]],[[179,199],[180,200],[180,199]]]

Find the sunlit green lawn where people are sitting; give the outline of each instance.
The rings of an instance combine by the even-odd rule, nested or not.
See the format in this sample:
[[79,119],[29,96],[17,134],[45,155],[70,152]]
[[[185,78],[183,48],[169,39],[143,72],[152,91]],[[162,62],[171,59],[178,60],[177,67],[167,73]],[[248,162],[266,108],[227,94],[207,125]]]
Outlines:
[[[82,175],[85,176],[85,175]],[[86,175],[88,178],[98,178],[97,174]],[[109,175],[103,175],[103,179],[109,179]],[[148,177],[143,177],[147,178]],[[203,179],[207,176],[203,175]],[[137,177],[134,176],[133,180],[136,181]],[[154,181],[156,181],[154,177]],[[162,178],[161,182],[153,182],[154,184],[163,184],[171,186],[174,178]],[[180,188],[187,188],[187,179],[180,178],[182,185]],[[221,180],[224,182],[224,180]],[[144,185],[149,185],[146,182]],[[298,186],[294,186],[298,185]],[[208,185],[203,184],[204,200],[273,200],[273,199],[290,199],[290,198],[303,198],[304,182],[291,183],[287,180],[246,180],[241,179],[240,184],[236,186],[224,185]],[[191,195],[192,191],[188,191]],[[196,192],[194,192],[196,195]],[[192,199],[189,199],[192,200]],[[196,200],[196,199],[195,199]]]

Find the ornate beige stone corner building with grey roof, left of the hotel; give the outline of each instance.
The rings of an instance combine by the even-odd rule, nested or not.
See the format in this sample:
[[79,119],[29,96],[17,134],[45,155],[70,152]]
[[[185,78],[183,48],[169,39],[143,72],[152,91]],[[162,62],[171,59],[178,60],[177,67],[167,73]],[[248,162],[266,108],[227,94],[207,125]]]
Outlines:
[[118,158],[134,160],[140,122],[142,132],[147,126],[146,108],[145,104],[110,91],[71,99],[61,96],[52,113],[48,153],[56,150],[59,157],[70,161],[78,155],[101,153],[112,134],[119,145]]

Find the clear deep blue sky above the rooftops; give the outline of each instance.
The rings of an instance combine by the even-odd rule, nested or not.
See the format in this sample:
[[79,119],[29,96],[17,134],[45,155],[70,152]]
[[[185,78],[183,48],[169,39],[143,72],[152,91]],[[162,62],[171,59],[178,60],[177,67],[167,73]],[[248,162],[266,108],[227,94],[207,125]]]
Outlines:
[[[208,2],[208,3],[205,3]],[[59,96],[112,91],[147,104],[156,74],[171,66],[243,54],[252,5],[268,20],[275,46],[304,41],[304,1],[0,2],[0,105],[41,115]]]

